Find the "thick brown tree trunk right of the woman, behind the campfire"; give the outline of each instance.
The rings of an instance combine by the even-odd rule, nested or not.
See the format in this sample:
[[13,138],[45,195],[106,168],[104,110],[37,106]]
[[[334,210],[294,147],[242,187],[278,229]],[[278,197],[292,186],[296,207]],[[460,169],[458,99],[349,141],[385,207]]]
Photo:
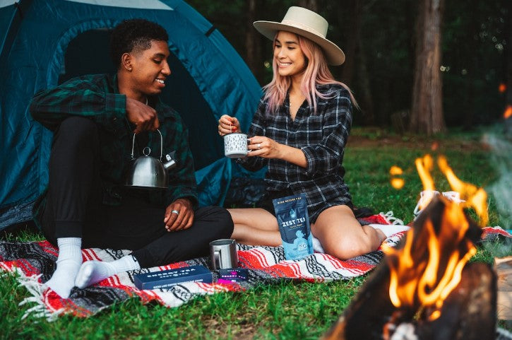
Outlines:
[[443,0],[419,1],[410,131],[427,135],[446,129],[440,71],[443,7]]

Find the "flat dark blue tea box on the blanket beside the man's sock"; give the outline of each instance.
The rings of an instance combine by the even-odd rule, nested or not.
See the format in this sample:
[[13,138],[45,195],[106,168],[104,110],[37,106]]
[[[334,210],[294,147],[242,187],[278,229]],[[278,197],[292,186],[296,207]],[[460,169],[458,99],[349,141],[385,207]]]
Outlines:
[[212,283],[213,276],[206,266],[197,265],[138,274],[134,281],[138,289],[158,289],[184,282]]

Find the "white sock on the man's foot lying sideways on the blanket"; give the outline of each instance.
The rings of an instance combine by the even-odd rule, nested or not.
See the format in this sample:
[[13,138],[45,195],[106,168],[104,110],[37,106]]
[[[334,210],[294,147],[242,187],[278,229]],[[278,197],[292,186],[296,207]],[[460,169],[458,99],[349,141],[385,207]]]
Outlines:
[[135,257],[126,255],[112,262],[87,261],[76,276],[75,286],[85,288],[122,271],[141,269]]

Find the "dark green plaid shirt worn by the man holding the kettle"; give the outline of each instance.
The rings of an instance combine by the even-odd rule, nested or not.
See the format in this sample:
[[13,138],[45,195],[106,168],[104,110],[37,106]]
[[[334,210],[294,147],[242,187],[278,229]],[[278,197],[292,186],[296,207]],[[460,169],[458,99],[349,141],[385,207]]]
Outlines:
[[[156,96],[148,98],[148,105],[157,111],[163,154],[176,151],[177,167],[169,170],[169,187],[166,190],[136,190],[135,194],[163,207],[180,197],[191,199],[196,206],[198,195],[188,131],[178,113]],[[100,132],[103,204],[119,205],[126,190],[134,190],[124,187],[124,174],[131,163],[135,126],[126,119],[126,96],[119,94],[117,76],[81,76],[56,88],[42,90],[32,98],[30,113],[37,122],[52,131],[71,115],[93,119]],[[150,156],[160,158],[160,135],[157,131],[137,134],[135,158],[143,155],[145,146],[150,147]]]

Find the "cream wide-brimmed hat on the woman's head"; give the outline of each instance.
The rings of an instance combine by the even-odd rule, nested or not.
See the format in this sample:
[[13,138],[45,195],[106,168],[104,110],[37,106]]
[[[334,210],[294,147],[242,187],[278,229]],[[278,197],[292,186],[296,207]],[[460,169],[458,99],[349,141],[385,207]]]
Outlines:
[[292,6],[280,23],[260,20],[255,21],[253,25],[259,33],[270,40],[274,40],[278,31],[285,30],[316,42],[326,54],[328,64],[341,65],[345,61],[345,54],[340,47],[326,39],[329,27],[327,20],[309,9]]

